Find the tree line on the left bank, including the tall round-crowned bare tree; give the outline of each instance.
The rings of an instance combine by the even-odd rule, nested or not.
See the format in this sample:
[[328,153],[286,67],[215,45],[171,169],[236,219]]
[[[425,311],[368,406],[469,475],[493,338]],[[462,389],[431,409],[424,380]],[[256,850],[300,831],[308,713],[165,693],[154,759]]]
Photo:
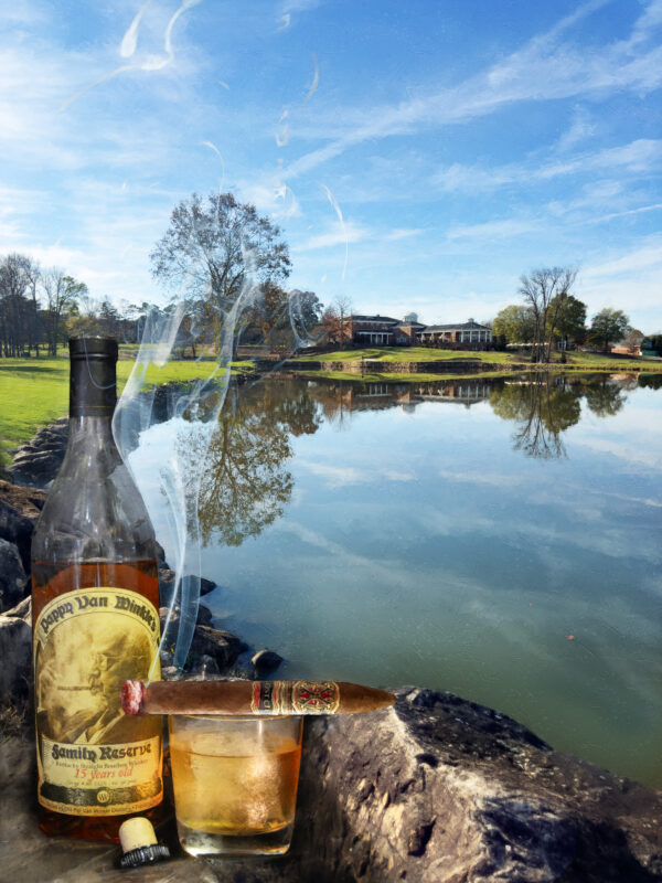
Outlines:
[[[171,295],[166,307],[95,300],[87,285],[28,255],[0,258],[0,355],[55,355],[67,337],[142,339],[149,320],[177,316],[175,351],[195,358],[203,344],[290,347],[319,326],[323,305],[313,291],[287,291],[288,246],[280,230],[232,193],[193,194],[172,211],[150,254],[154,280]],[[183,307],[183,309],[182,309]]]

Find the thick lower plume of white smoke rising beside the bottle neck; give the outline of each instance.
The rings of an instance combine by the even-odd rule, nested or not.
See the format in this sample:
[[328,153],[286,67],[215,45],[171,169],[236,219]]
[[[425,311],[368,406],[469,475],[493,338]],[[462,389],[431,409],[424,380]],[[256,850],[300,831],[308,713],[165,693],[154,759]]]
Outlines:
[[[154,308],[148,316],[136,363],[113,421],[117,446],[158,525],[159,542],[174,571],[163,638],[171,635],[169,627],[179,607],[173,664],[180,672],[197,619],[202,547],[197,504],[206,455],[226,405],[242,328],[247,313],[260,307],[263,297],[249,253],[244,255],[244,263],[247,273],[238,296],[225,309],[216,308],[214,358],[197,355],[199,365],[207,369],[200,371],[203,376],[188,383],[159,383],[160,372],[175,352],[200,333],[186,292],[180,291],[166,310]],[[301,292],[291,292],[284,307],[286,315],[277,322],[282,359],[310,342],[310,322],[301,309],[300,296]]]

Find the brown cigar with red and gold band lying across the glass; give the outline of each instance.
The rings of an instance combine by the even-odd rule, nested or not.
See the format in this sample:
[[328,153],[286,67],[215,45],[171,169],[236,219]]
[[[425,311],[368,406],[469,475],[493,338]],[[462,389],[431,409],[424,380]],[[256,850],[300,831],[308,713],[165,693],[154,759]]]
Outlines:
[[355,714],[394,702],[342,681],[126,681],[120,694],[125,714]]

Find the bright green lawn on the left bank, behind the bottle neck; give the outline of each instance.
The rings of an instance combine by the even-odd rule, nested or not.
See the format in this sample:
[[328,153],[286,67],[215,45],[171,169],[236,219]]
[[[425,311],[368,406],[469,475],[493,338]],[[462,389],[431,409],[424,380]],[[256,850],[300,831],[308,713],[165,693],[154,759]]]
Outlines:
[[[134,362],[117,363],[118,391],[124,389]],[[162,369],[150,368],[148,382],[169,383],[206,377],[213,362],[168,362]],[[252,368],[236,362],[234,369]],[[36,429],[63,417],[68,408],[68,352],[53,359],[0,359],[0,461],[7,448],[28,442]]]

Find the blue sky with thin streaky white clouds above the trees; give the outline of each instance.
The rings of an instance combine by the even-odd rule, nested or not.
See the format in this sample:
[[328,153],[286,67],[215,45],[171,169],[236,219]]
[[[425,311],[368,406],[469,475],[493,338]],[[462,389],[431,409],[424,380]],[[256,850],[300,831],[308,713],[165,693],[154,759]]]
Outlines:
[[0,0],[0,254],[159,300],[232,189],[324,302],[484,320],[573,264],[662,331],[661,85],[662,0]]

